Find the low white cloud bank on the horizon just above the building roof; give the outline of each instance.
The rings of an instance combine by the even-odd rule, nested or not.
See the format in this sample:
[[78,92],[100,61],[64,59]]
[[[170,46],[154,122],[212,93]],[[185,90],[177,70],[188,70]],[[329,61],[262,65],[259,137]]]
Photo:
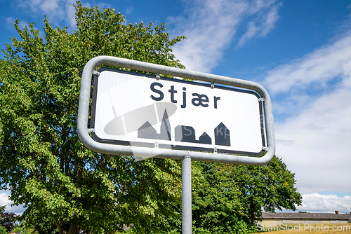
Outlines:
[[337,195],[321,195],[318,193],[303,194],[303,205],[298,210],[304,212],[335,212],[350,213],[351,196],[343,198]]

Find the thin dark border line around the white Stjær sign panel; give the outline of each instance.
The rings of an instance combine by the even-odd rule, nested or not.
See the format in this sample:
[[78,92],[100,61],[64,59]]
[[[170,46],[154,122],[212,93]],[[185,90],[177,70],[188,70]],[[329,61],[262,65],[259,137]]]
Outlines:
[[[159,76],[157,78],[156,76],[152,76],[149,74],[142,74],[138,72],[133,72],[133,71],[125,71],[121,69],[112,69],[109,67],[102,67],[98,69],[98,72],[101,74],[102,71],[112,71],[112,72],[117,72],[121,74],[128,74],[132,76],[143,76],[145,78],[154,78],[156,81],[161,80],[161,81],[171,81],[171,82],[177,82],[177,83],[185,83],[187,85],[199,85],[203,86],[206,88],[211,88],[211,84],[209,83],[199,83],[196,81],[185,81],[185,80],[180,80],[176,78],[168,78],[165,76]],[[95,128],[95,109],[96,109],[96,101],[97,101],[97,96],[98,96],[98,83],[99,83],[99,77],[98,75],[95,74],[94,76],[94,83],[93,83],[93,102],[91,104],[91,121],[90,121],[90,128],[94,129]],[[230,90],[232,92],[244,92],[244,93],[249,93],[251,95],[255,95],[258,99],[260,99],[260,95],[258,95],[257,92],[254,92],[252,90],[243,90],[243,89],[238,89],[234,87],[228,87],[228,86],[220,86],[213,84],[213,88],[217,88],[220,90]],[[261,127],[261,139],[262,139],[262,145],[265,147],[265,134],[262,131],[263,130],[263,110],[262,110],[262,104],[259,103],[258,105],[259,111],[260,111],[260,127]],[[124,145],[124,146],[143,146],[143,147],[152,147],[154,148],[154,143],[147,143],[147,142],[128,142],[124,140],[114,140],[114,139],[101,139],[98,137],[95,132],[91,133],[91,137],[95,139],[96,142],[104,143],[104,144],[117,144],[117,145]],[[220,146],[218,146],[220,147]],[[219,149],[216,147],[216,150],[218,153],[230,153],[230,154],[238,154],[238,155],[245,155],[245,156],[262,156],[265,151],[262,149],[259,152],[246,152],[246,151],[235,151],[235,150],[229,150],[229,149]],[[215,149],[213,147],[199,147],[199,146],[182,146],[182,145],[173,145],[173,144],[159,144],[159,148],[164,148],[164,149],[182,149],[182,150],[190,150],[190,151],[205,151],[205,152],[215,152]]]

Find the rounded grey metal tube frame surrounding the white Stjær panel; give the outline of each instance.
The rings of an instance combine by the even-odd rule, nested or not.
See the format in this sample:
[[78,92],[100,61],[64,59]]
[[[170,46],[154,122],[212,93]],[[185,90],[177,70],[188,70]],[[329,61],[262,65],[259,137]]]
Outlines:
[[[197,81],[206,81],[211,84],[229,85],[233,88],[245,88],[253,90],[260,95],[260,100],[263,102],[264,114],[264,128],[267,138],[267,146],[263,149],[266,152],[262,157],[252,156],[237,156],[224,154],[220,152],[198,152],[186,151],[177,149],[161,149],[155,146],[140,147],[140,146],[126,146],[116,144],[106,144],[95,141],[91,134],[94,134],[93,128],[88,128],[88,114],[90,111],[91,99],[91,81],[93,74],[99,74],[95,71],[96,67],[100,65],[110,65],[114,67],[124,67],[128,69],[135,69],[139,71],[148,71],[159,74],[176,76],[181,78],[189,78]],[[267,91],[258,83],[252,81],[244,81],[237,78],[230,78],[226,76],[217,76],[213,74],[206,74],[198,71],[188,71],[185,69],[178,69],[174,67],[166,67],[159,64],[151,64],[147,62],[139,62],[135,60],[127,60],[120,57],[112,56],[98,56],[94,57],[84,67],[81,76],[81,89],[79,95],[79,108],[77,118],[77,130],[79,139],[88,149],[98,153],[105,153],[109,155],[128,155],[143,158],[171,158],[183,160],[185,157],[190,157],[191,160],[213,162],[213,163],[232,163],[242,165],[265,165],[272,160],[275,153],[275,137],[274,137],[274,123],[272,115],[272,104],[270,96]]]

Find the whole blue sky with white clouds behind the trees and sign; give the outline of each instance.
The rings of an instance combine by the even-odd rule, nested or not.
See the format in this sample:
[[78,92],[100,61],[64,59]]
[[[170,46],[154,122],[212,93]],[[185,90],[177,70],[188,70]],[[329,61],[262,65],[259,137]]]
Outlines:
[[[303,212],[351,212],[351,1],[84,0],[114,8],[126,23],[166,23],[186,69],[260,83],[270,93],[276,155],[295,173]],[[43,32],[74,31],[71,0],[0,0],[0,48],[18,36],[13,23]],[[3,57],[3,54],[0,53]],[[11,207],[8,191],[0,205]]]

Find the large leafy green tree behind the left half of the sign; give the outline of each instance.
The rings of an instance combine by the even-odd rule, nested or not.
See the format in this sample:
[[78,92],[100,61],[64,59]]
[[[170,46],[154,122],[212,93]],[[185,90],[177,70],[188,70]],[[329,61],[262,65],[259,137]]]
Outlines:
[[[53,29],[44,37],[33,24],[3,50],[0,60],[0,185],[11,188],[22,220],[38,233],[114,233],[123,224],[156,231],[154,222],[180,201],[180,162],[106,156],[77,137],[81,71],[98,55],[184,68],[163,24],[126,25],[114,9],[75,4],[77,30]],[[55,230],[53,230],[55,231]]]

